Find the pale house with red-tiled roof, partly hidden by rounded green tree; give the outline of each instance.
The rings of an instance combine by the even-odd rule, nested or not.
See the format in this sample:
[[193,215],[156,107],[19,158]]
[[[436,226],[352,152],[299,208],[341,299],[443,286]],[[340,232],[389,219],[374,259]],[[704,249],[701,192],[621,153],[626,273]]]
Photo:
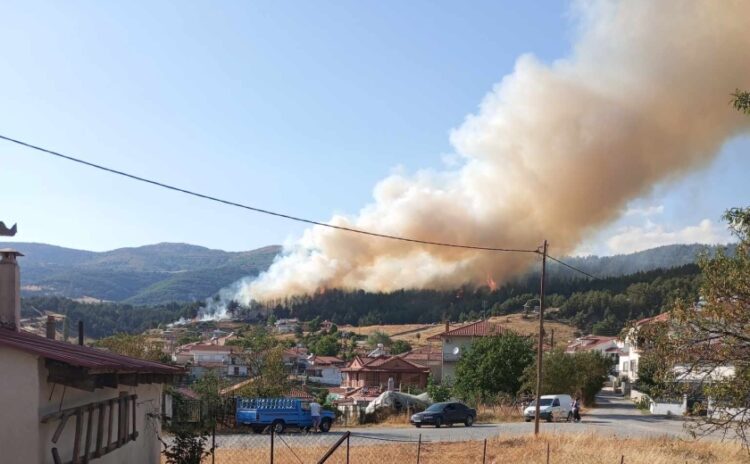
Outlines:
[[500,335],[505,332],[499,324],[487,320],[473,322],[451,329],[445,323],[445,331],[428,338],[428,341],[440,341],[442,343],[442,382],[451,382],[456,377],[456,367],[461,356],[474,343],[478,337],[489,337]]

